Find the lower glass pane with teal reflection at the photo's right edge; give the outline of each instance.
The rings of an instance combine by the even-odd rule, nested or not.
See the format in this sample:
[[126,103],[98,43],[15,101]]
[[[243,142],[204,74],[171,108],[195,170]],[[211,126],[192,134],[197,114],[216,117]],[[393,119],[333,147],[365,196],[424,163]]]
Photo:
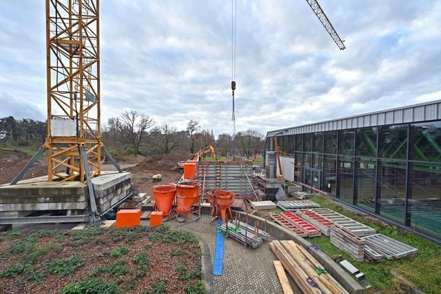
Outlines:
[[411,226],[441,237],[441,164],[410,163],[409,188]]

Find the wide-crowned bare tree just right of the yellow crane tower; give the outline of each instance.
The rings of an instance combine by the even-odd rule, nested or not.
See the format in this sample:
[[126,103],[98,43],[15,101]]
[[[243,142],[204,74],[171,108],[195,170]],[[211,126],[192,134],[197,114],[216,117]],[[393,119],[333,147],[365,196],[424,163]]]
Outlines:
[[107,132],[115,141],[130,144],[133,154],[138,156],[139,146],[147,138],[154,120],[136,110],[125,111],[119,117],[111,117],[107,122]]

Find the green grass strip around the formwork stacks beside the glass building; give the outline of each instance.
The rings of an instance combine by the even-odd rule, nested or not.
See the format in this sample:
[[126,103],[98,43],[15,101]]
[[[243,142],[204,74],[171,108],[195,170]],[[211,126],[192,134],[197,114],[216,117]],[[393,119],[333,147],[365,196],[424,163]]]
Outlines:
[[391,270],[395,270],[402,277],[409,280],[409,282],[415,284],[420,290],[426,293],[441,293],[441,246],[427,239],[422,239],[414,233],[400,231],[393,226],[384,226],[378,219],[373,217],[345,210],[331,199],[323,196],[314,196],[311,200],[320,204],[322,208],[330,208],[337,213],[375,228],[378,233],[418,248],[418,255],[416,257],[394,260],[384,259],[378,263],[367,263],[357,262],[345,252],[340,251],[340,249],[331,244],[327,236],[314,237],[308,240],[316,244],[318,248],[325,251],[330,257],[334,254],[342,255],[344,259],[347,259],[365,273],[367,281],[372,285],[371,291],[395,293],[405,290],[400,288],[398,278],[391,274]]

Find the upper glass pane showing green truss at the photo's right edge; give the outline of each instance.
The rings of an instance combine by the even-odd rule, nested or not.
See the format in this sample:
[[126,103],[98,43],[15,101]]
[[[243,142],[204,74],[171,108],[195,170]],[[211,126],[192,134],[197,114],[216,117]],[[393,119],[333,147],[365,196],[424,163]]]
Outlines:
[[410,159],[441,162],[441,121],[411,124]]

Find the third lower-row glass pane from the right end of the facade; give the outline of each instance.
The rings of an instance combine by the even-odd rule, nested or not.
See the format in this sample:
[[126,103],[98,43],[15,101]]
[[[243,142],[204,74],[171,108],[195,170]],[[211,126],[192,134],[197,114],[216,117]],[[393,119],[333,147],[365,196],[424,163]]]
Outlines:
[[375,211],[375,159],[356,159],[357,205]]

